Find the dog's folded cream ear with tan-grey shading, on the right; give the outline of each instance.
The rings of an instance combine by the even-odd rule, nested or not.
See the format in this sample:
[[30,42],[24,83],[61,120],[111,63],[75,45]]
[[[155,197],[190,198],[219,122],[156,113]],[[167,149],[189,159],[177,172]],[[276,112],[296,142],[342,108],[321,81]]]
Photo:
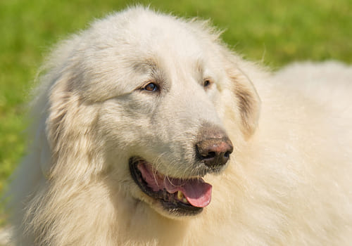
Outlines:
[[[260,115],[260,98],[246,70],[258,74],[255,65],[227,52],[225,70],[230,79],[230,89],[236,98],[236,112],[240,118],[241,131],[249,138],[256,131]],[[257,77],[254,75],[253,77]]]

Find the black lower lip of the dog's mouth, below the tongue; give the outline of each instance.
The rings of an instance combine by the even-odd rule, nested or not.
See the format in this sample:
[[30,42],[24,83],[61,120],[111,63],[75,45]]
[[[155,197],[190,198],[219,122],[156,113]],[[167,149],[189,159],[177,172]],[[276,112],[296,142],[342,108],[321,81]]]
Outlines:
[[[157,200],[162,207],[170,212],[171,214],[175,214],[177,216],[192,216],[199,214],[200,212],[203,211],[203,207],[194,207],[192,205],[187,205],[182,202],[179,202],[173,198],[173,194],[168,193],[166,190],[159,190],[157,192],[151,190],[147,186],[146,181],[142,179],[142,174],[137,169],[137,164],[143,160],[140,157],[131,157],[129,160],[129,165],[130,165],[130,173],[132,176],[132,179],[134,180],[135,183],[137,183],[137,186],[146,194],[149,195],[149,197]],[[170,200],[172,200],[170,202]]]

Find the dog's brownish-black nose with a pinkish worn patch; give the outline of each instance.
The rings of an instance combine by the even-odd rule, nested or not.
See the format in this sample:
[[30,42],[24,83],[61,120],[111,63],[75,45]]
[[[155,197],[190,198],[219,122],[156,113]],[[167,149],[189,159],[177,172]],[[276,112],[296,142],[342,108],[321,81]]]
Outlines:
[[219,129],[207,129],[206,133],[202,136],[203,139],[196,143],[197,158],[208,167],[225,165],[234,149],[230,138]]

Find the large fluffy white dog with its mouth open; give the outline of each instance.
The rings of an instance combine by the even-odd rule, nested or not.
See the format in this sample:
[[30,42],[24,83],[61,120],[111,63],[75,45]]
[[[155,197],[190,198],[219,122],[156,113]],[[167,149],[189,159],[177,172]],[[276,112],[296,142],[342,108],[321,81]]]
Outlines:
[[18,245],[351,245],[352,69],[242,60],[142,7],[61,43],[11,186]]

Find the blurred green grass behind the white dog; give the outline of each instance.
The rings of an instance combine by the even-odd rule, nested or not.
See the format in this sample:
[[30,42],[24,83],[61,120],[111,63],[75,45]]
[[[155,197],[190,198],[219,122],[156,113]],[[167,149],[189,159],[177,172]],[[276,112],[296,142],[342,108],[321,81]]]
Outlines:
[[352,63],[351,0],[0,0],[0,195],[24,155],[28,91],[49,48],[94,18],[137,3],[210,18],[245,58],[274,69],[294,60]]

